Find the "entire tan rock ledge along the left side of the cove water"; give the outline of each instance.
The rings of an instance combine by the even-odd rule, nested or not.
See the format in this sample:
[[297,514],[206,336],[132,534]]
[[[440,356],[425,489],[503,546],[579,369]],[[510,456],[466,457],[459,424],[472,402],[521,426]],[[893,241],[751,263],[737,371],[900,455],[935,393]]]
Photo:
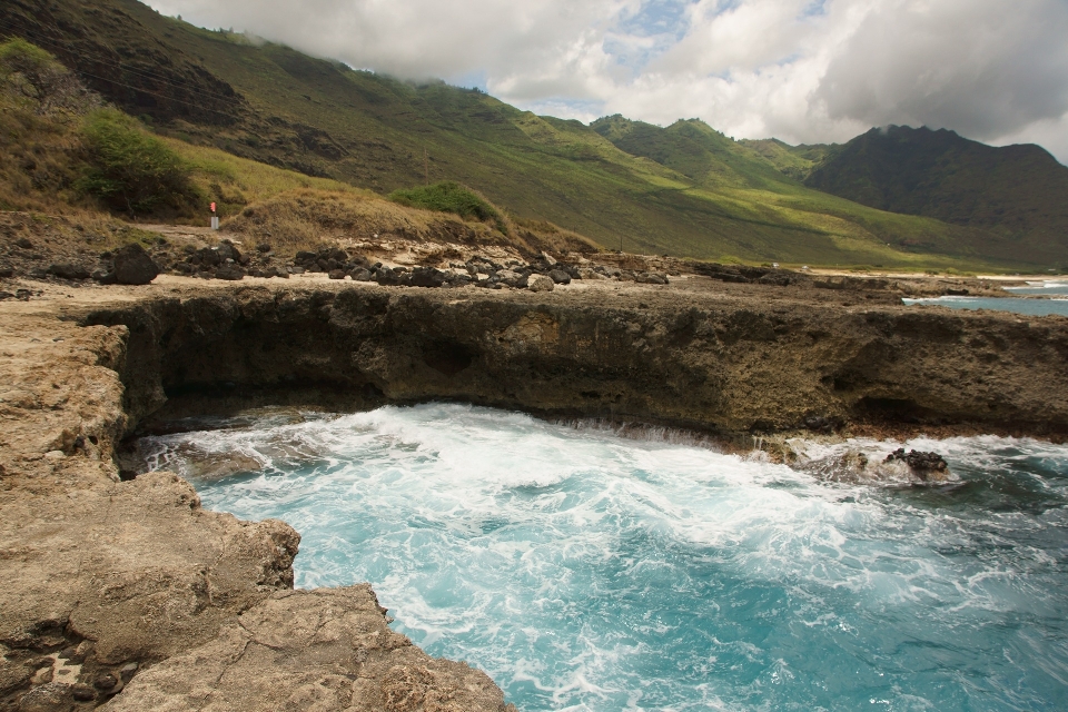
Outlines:
[[293,591],[299,535],[121,482],[130,332],[0,304],[0,712],[486,710],[503,693],[386,625],[369,586]]

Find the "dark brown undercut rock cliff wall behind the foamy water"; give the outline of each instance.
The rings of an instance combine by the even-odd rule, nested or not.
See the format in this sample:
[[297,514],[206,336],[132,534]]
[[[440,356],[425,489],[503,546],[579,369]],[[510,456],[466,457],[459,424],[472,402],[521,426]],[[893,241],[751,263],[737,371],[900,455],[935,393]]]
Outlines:
[[462,399],[725,434],[848,423],[1068,432],[1068,319],[815,290],[551,297],[255,287],[95,310],[130,329],[127,412],[167,394],[318,388],[353,404]]

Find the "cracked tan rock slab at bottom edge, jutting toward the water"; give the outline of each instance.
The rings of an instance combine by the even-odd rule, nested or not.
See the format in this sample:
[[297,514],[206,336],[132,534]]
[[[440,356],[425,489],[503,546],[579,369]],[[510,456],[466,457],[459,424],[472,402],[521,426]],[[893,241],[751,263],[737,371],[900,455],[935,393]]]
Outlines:
[[139,675],[108,712],[503,709],[485,673],[389,630],[367,584],[285,591]]

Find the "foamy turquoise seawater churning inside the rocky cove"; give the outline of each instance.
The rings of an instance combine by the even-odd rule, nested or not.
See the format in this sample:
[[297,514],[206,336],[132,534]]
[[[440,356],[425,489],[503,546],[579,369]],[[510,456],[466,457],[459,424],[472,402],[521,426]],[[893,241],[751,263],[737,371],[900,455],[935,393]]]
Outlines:
[[960,478],[917,490],[464,405],[233,425],[142,452],[263,463],[205,506],[521,710],[1068,709],[1068,447],[913,441]]

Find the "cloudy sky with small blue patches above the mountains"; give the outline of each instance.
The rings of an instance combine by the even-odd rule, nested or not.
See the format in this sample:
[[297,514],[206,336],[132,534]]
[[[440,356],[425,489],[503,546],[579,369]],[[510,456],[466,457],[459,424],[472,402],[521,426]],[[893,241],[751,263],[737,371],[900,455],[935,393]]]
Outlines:
[[1036,142],[1068,164],[1068,0],[150,0],[353,67],[538,113],[735,138],[872,126]]

